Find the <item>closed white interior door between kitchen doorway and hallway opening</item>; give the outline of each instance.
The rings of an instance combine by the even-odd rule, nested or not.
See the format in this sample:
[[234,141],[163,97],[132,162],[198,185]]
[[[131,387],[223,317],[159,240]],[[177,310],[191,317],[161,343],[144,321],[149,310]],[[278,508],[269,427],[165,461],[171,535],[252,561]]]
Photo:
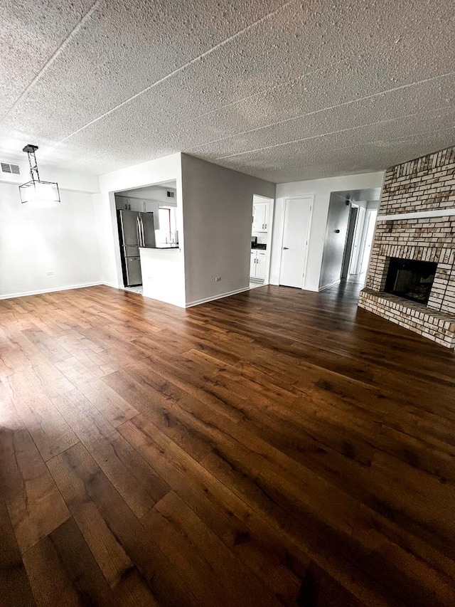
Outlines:
[[288,198],[284,201],[282,264],[279,284],[304,287],[313,198]]

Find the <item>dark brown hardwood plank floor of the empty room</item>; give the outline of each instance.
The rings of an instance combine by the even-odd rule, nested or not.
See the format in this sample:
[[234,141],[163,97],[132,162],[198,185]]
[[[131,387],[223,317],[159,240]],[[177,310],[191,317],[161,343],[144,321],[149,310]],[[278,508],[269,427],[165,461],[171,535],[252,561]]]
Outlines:
[[0,605],[454,606],[455,355],[358,285],[0,302]]

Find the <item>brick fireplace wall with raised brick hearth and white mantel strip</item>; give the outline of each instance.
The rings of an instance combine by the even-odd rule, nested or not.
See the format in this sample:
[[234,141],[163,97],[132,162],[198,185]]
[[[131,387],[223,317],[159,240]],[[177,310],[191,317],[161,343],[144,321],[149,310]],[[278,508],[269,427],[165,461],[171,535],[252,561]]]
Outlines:
[[[427,303],[386,292],[393,290],[387,272],[397,259],[435,264],[434,276],[427,271],[413,287],[424,292],[424,281],[432,280]],[[387,169],[359,306],[455,347],[455,147]]]

